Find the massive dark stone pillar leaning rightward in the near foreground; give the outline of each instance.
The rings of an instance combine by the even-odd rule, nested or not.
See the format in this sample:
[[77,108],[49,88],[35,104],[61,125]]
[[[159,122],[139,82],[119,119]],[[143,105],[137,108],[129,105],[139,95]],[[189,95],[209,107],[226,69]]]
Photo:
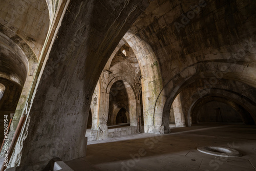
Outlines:
[[[86,123],[102,69],[148,1],[70,1],[44,61],[11,166],[44,168],[86,155]],[[42,62],[42,61],[41,61]]]

